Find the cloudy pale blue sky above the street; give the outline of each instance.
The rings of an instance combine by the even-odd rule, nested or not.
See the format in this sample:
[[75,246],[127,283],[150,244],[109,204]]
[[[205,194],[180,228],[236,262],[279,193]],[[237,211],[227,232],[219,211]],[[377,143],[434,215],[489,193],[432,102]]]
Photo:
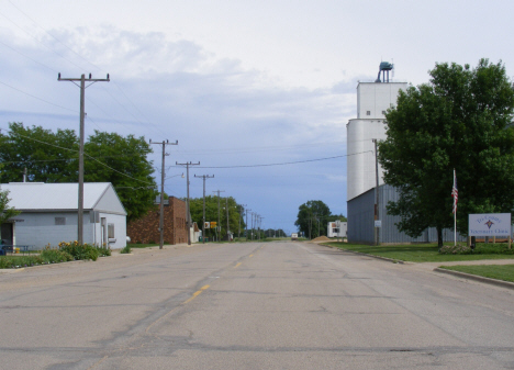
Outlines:
[[[299,206],[346,215],[346,124],[358,81],[380,61],[393,81],[437,63],[502,60],[514,76],[512,0],[0,0],[0,130],[10,122],[133,134],[166,147],[165,191],[221,190],[295,232]],[[161,147],[153,145],[160,183]]]

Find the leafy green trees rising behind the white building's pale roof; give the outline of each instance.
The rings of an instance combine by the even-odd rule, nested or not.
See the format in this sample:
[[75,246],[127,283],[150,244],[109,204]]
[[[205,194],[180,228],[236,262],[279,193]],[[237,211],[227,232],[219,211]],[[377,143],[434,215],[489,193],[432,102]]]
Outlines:
[[[29,180],[77,182],[79,139],[71,130],[53,133],[41,126],[11,123],[9,134],[0,134],[2,182],[20,182],[26,168]],[[85,143],[85,181],[111,182],[122,201],[127,220],[152,209],[157,192],[152,177],[152,148],[143,137],[96,132]],[[109,167],[104,166],[108,165]]]

